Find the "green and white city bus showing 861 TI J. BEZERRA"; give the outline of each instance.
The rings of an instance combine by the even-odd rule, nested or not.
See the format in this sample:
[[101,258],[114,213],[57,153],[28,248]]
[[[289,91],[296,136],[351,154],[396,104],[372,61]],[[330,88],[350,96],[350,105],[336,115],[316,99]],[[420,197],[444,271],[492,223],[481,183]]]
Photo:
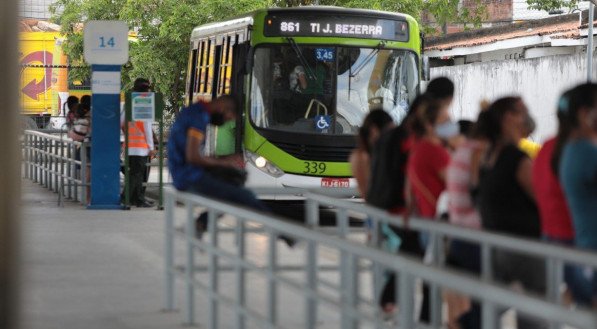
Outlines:
[[185,102],[238,99],[242,118],[210,128],[206,149],[234,143],[249,186],[353,188],[359,126],[373,109],[400,122],[419,93],[421,49],[409,15],[261,9],[193,30]]

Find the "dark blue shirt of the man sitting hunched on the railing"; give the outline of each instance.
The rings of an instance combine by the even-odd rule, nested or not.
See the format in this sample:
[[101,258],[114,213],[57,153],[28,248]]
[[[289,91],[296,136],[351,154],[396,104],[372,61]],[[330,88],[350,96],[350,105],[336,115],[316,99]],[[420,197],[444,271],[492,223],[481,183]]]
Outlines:
[[205,136],[209,124],[209,113],[203,104],[193,104],[184,108],[170,130],[168,139],[168,167],[174,187],[186,190],[203,176],[203,168],[187,163],[187,133],[196,130]]

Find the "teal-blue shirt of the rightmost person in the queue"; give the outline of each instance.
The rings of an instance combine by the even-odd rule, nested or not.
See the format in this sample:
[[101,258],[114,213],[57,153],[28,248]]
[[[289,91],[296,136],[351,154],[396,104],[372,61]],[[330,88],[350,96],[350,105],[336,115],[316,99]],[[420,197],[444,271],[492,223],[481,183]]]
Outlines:
[[569,142],[560,160],[560,182],[572,214],[576,245],[597,249],[597,146]]

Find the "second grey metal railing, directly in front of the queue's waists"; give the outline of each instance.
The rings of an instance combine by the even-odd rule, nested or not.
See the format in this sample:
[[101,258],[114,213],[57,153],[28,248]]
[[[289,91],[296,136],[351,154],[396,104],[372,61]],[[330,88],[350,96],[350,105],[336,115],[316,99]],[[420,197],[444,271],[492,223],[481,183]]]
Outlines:
[[[381,209],[366,204],[359,204],[321,195],[319,193],[306,193],[306,221],[311,225],[319,223],[319,207],[335,207],[336,222],[346,221],[349,215],[368,218],[372,221],[371,245],[380,246],[381,226],[383,224],[404,228],[401,216],[391,215]],[[597,268],[597,254],[594,252],[574,249],[539,240],[523,239],[520,237],[468,229],[438,221],[425,219],[411,219],[409,229],[426,232],[429,235],[431,259],[436,267],[445,267],[445,239],[456,239],[471,242],[480,246],[481,250],[481,279],[485,282],[493,281],[492,258],[495,250],[509,251],[524,254],[545,260],[546,296],[556,305],[562,304],[561,287],[563,283],[564,265]],[[380,291],[381,269],[374,269],[374,289]],[[431,322],[434,325],[441,323],[441,294],[437,285],[431,285]],[[484,321],[497,323],[495,305],[486,302],[483,305]],[[488,319],[485,319],[489,317]],[[564,322],[563,322],[564,323]],[[493,324],[495,326],[495,324]],[[552,328],[559,326],[558,322],[551,324]],[[493,328],[493,327],[491,327]]]

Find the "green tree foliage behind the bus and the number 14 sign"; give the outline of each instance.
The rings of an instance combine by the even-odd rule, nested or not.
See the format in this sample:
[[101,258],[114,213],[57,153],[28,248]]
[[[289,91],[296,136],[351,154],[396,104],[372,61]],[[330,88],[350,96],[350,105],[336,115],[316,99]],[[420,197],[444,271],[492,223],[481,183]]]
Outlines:
[[[477,0],[480,1],[480,0]],[[440,24],[471,21],[458,0],[320,0],[320,5],[370,8],[402,12],[420,20],[426,10]],[[182,104],[188,65],[189,38],[200,24],[221,20],[264,7],[293,7],[315,4],[315,0],[57,0],[53,20],[66,36],[64,51],[76,69],[69,78],[89,78],[83,60],[82,26],[87,20],[123,20],[138,38],[130,43],[130,61],[123,67],[123,88],[130,89],[137,77],[148,78],[162,92],[167,110]]]

